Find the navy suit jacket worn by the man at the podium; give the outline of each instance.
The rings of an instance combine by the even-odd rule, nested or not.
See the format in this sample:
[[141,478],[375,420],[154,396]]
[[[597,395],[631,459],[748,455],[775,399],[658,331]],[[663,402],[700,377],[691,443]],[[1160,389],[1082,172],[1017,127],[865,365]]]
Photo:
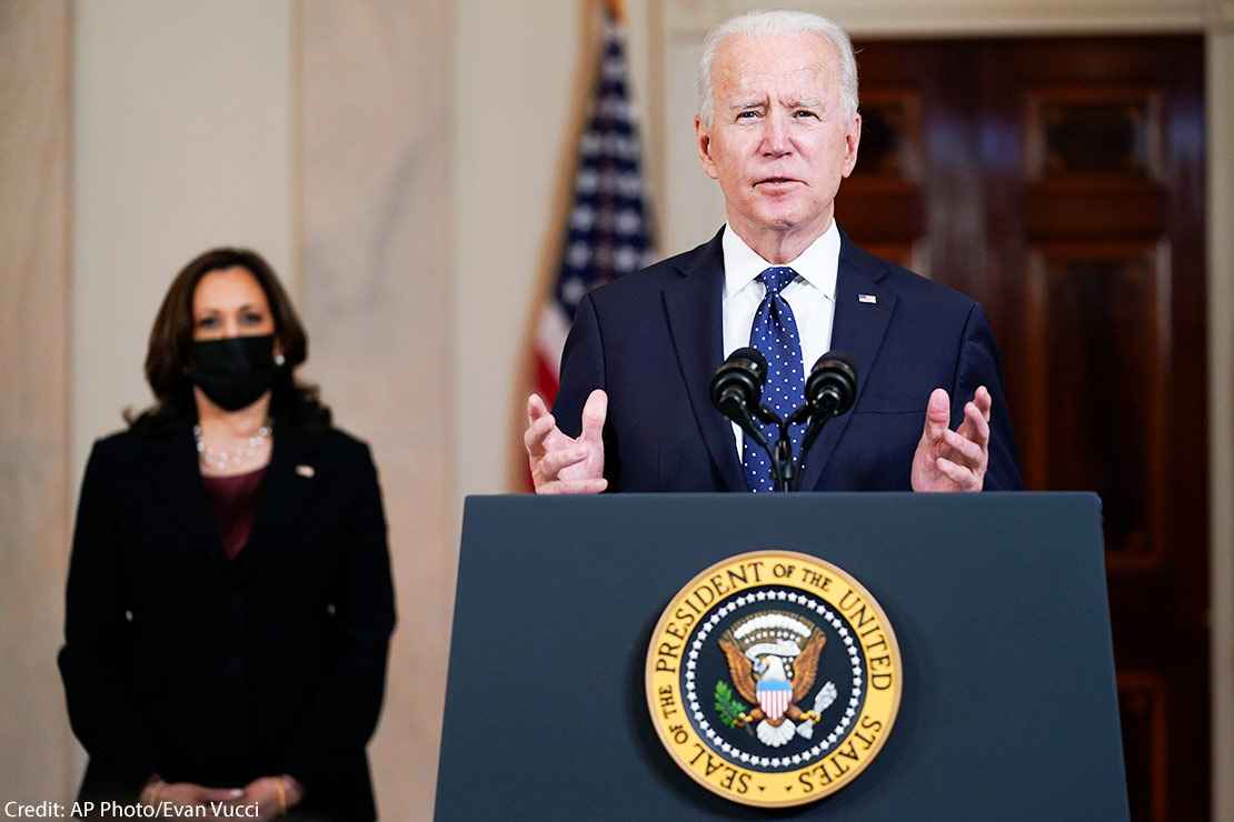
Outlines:
[[[612,490],[747,490],[732,425],[708,394],[724,360],[721,237],[579,303],[553,414],[576,436],[587,396],[608,393]],[[830,348],[853,359],[858,397],[811,449],[802,489],[909,490],[930,392],[948,391],[954,428],[982,385],[993,397],[985,488],[1021,488],[998,354],[976,302],[868,254],[840,232]]]

